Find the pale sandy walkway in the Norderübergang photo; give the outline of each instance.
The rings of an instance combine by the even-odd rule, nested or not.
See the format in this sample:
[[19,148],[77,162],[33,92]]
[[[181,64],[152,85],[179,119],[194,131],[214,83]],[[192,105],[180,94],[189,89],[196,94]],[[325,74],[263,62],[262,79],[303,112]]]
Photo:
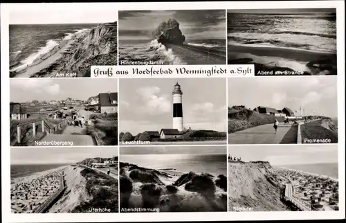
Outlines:
[[[78,111],[80,116],[84,117],[85,121],[89,121],[89,115],[93,114],[91,111],[85,111],[80,109]],[[57,143],[65,143],[65,145],[94,145],[94,141],[92,136],[84,134],[86,126],[73,126],[68,125],[62,134],[47,134],[40,143],[41,146],[45,146],[44,144],[57,142]],[[69,144],[67,144],[69,143]]]

